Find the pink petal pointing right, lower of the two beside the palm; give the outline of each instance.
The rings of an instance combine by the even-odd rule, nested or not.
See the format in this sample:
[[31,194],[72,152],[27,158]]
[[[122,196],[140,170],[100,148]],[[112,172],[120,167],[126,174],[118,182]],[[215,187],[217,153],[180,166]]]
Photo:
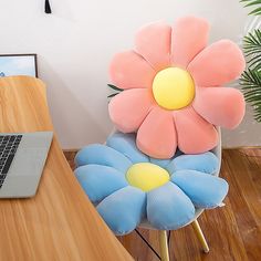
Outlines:
[[198,87],[194,107],[208,122],[234,128],[243,118],[246,104],[243,95],[236,88]]

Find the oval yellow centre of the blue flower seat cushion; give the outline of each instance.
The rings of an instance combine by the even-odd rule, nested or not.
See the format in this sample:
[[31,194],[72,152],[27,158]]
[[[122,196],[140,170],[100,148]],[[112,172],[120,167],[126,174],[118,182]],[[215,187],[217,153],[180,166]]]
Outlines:
[[149,191],[169,181],[169,174],[164,168],[150,163],[134,164],[126,174],[129,185]]

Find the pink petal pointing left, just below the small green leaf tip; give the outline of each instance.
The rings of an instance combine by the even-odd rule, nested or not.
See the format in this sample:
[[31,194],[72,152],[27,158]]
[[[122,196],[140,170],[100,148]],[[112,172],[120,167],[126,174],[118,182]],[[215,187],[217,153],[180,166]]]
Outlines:
[[123,133],[136,132],[149,113],[154,100],[147,88],[123,91],[108,104],[108,113],[116,128]]

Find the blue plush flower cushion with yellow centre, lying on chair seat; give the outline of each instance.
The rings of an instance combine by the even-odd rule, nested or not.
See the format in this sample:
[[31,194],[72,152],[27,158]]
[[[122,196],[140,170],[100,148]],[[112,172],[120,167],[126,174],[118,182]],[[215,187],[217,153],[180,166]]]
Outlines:
[[75,163],[77,180],[115,234],[145,219],[155,229],[178,229],[196,208],[215,208],[228,192],[227,181],[213,176],[219,160],[212,153],[150,158],[136,147],[135,134],[115,133],[106,145],[86,146]]

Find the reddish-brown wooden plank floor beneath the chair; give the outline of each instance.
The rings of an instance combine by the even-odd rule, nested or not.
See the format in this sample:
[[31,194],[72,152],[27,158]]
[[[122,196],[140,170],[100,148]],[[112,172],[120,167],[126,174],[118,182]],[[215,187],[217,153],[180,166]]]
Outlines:
[[[66,154],[73,168],[73,153]],[[202,253],[191,226],[171,232],[170,261],[261,261],[261,149],[225,149],[221,177],[230,185],[226,207],[198,219],[210,247]],[[158,251],[157,231],[139,232]],[[119,241],[137,261],[157,261],[136,232]]]

